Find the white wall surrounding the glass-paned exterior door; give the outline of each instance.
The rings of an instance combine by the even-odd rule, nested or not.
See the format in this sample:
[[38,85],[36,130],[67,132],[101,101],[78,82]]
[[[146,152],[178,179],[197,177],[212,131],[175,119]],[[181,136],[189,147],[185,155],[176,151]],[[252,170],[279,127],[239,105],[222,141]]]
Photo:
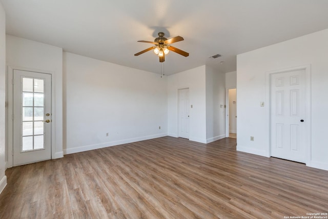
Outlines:
[[7,35],[6,58],[8,66],[52,74],[52,158],[63,157],[63,49]]

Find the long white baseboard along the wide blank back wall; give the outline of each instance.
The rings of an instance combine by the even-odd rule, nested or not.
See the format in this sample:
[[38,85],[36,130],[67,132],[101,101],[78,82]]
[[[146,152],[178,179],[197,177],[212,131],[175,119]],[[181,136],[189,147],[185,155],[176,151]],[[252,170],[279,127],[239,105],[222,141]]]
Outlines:
[[133,142],[145,141],[145,140],[149,140],[149,139],[152,139],[152,138],[164,137],[164,136],[168,136],[168,134],[167,133],[161,133],[161,134],[155,134],[155,135],[148,135],[148,136],[142,136],[142,137],[129,138],[129,139],[126,139],[126,140],[105,142],[105,143],[101,143],[101,144],[85,145],[85,146],[80,146],[80,147],[67,148],[67,149],[64,149],[64,154],[78,153],[78,152],[83,152],[83,151],[99,149],[99,148],[111,147],[111,146],[115,146],[115,145],[122,145],[122,144],[128,144],[128,143],[133,143]]

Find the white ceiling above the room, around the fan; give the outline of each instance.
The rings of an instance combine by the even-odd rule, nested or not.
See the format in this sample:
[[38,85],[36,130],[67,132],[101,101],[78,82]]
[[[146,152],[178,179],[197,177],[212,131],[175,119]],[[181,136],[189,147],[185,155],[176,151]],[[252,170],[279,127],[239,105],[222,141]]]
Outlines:
[[328,28],[326,0],[0,1],[7,34],[155,73],[161,65],[152,51],[134,56],[151,44],[137,41],[180,35],[185,41],[173,46],[190,55],[171,51],[167,75],[205,64],[235,71],[237,54]]

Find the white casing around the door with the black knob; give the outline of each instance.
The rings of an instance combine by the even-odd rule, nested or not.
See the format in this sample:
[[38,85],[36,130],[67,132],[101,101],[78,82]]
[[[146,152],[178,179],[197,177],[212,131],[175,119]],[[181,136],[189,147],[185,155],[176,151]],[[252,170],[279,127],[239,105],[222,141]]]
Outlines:
[[291,72],[291,71],[298,71],[304,70],[305,71],[305,165],[311,166],[311,65],[302,65],[296,66],[291,68],[283,68],[278,70],[268,71],[265,75],[265,87],[266,95],[265,95],[265,102],[266,104],[266,113],[265,113],[265,121],[267,121],[267,127],[269,138],[268,138],[268,157],[271,157],[271,75],[276,73],[284,73],[284,72]]

